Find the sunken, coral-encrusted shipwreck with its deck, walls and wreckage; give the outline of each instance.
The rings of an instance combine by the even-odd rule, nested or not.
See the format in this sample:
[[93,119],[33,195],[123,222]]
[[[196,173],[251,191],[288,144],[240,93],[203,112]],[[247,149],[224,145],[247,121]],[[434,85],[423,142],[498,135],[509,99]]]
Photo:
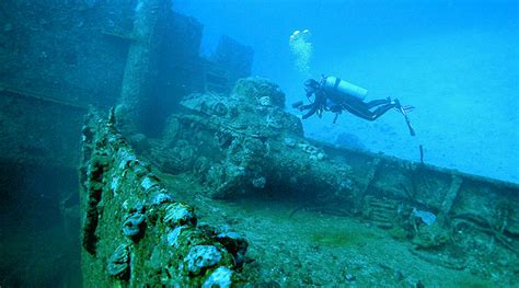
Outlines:
[[73,178],[49,197],[79,219],[69,285],[518,283],[519,185],[308,139],[251,47],[206,59],[200,23],[137,2],[1,4],[2,173]]

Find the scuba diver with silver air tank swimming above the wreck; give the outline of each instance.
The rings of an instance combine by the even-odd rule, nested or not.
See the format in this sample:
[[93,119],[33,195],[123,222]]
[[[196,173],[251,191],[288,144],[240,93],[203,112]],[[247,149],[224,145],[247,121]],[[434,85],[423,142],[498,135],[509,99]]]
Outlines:
[[[341,80],[337,77],[322,77],[321,81],[318,82],[313,79],[304,81],[304,91],[307,92],[307,99],[311,99],[315,95],[312,103],[303,105],[302,101],[298,101],[292,104],[293,108],[299,111],[308,111],[302,118],[307,119],[310,116],[318,114],[322,117],[324,111],[331,111],[335,113],[333,123],[337,120],[338,115],[346,110],[347,112],[367,120],[376,120],[382,116],[385,112],[391,108],[397,110],[405,118],[407,127],[410,128],[411,136],[415,136],[415,131],[411,122],[407,117],[407,111],[413,110],[413,106],[402,106],[397,99],[391,100],[390,97],[383,100],[373,100],[370,102],[364,102],[368,91],[364,88],[354,85],[349,82]],[[371,108],[374,108],[371,111]]]

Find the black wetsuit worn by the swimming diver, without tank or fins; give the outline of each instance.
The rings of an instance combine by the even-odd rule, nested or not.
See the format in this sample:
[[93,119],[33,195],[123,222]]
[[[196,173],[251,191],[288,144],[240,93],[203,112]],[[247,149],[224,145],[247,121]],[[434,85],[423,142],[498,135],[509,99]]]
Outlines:
[[[307,93],[307,97],[315,94],[315,101],[308,105],[302,105],[299,107],[300,111],[310,110],[307,112],[302,118],[307,119],[308,117],[312,116],[316,112],[319,112],[319,116],[321,116],[322,111],[331,111],[334,113],[341,113],[343,110],[348,111],[349,113],[367,119],[367,120],[374,120],[378,117],[382,116],[389,110],[396,107],[399,105],[397,102],[392,102],[390,99],[383,100],[373,100],[370,102],[362,102],[354,96],[348,95],[328,95],[326,92],[323,91],[322,88],[318,89],[314,92]],[[332,102],[326,103],[327,100]],[[372,107],[377,107],[373,112],[370,111]]]

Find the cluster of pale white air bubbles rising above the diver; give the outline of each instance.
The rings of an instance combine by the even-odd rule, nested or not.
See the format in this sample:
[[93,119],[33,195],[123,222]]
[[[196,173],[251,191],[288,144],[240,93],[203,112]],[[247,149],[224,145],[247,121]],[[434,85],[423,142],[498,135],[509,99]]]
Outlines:
[[309,30],[296,30],[289,38],[290,50],[293,55],[296,69],[304,76],[310,74],[310,61],[313,55],[313,44],[310,42]]

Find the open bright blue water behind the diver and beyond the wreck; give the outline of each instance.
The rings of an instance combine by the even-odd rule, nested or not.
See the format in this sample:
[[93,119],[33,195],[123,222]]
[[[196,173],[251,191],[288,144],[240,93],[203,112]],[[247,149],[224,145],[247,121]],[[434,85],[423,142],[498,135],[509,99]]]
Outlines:
[[[416,137],[394,112],[373,123],[343,114],[335,125],[328,113],[303,122],[308,136],[415,161],[422,145],[426,163],[519,182],[519,1],[180,0],[174,8],[205,25],[204,55],[222,34],[252,46],[253,74],[278,83],[288,104],[304,99],[308,77],[324,73],[366,88],[367,100],[416,107]],[[288,45],[296,30],[312,34],[308,74]]]

